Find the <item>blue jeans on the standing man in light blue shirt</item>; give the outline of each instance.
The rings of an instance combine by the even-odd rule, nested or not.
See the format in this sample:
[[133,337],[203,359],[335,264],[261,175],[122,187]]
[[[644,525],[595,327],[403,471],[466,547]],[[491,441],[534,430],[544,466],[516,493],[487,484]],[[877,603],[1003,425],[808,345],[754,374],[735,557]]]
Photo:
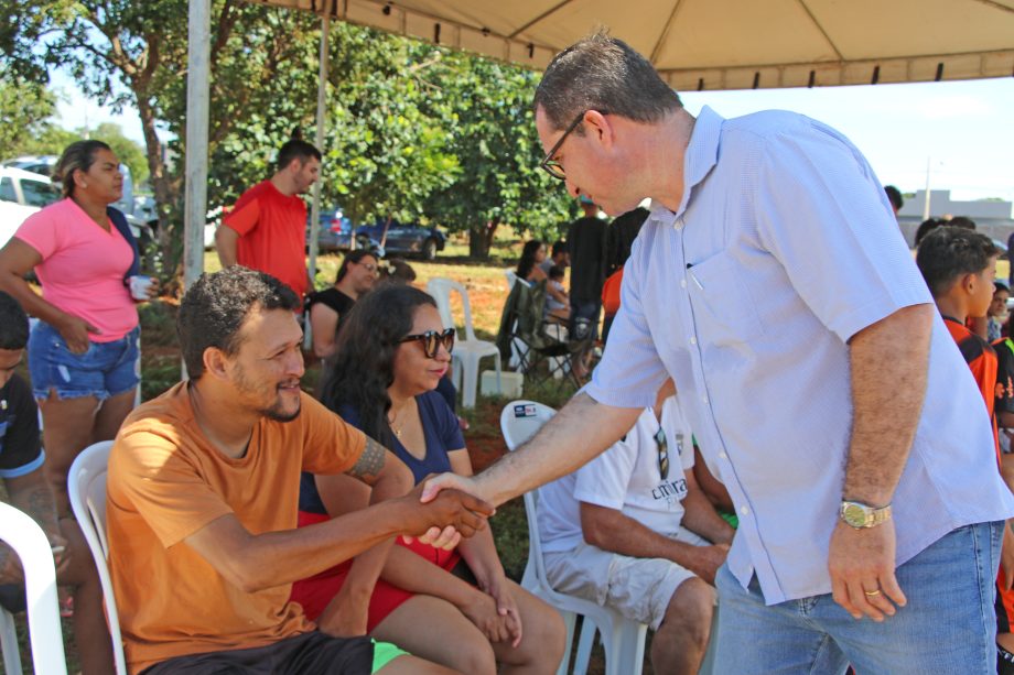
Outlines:
[[908,605],[883,623],[853,619],[831,595],[764,605],[719,569],[715,673],[996,673],[993,610],[1003,523],[948,533],[897,568]]

